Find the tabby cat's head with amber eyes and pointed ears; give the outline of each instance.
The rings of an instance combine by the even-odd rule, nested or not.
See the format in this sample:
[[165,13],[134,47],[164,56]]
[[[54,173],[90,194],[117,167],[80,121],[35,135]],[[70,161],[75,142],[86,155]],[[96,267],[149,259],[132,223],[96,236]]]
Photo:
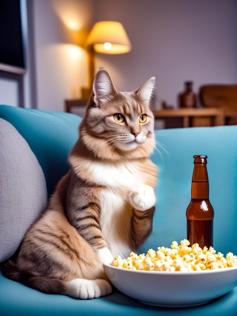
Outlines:
[[100,159],[136,159],[154,148],[154,117],[149,108],[155,77],[133,92],[118,92],[101,68],[80,126],[84,145]]

